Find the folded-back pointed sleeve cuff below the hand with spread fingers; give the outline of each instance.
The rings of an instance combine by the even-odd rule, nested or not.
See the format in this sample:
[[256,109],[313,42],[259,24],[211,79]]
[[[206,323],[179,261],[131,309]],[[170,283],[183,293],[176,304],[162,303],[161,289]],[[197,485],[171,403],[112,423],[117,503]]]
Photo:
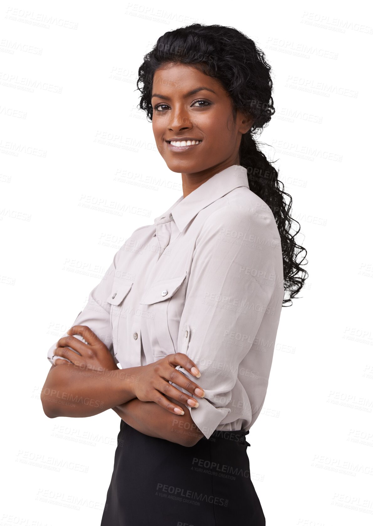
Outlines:
[[[189,380],[195,381],[196,377],[190,375],[182,366],[177,366],[176,369],[183,373],[184,376],[189,378]],[[190,394],[185,389],[177,386],[175,383],[172,383],[174,387],[183,391],[186,394]],[[220,422],[227,416],[231,410],[227,407],[215,407],[211,402],[206,398],[196,397],[198,400],[198,407],[187,406],[190,412],[191,419],[196,424],[198,429],[204,434],[204,436],[209,439],[211,434],[216,430]]]

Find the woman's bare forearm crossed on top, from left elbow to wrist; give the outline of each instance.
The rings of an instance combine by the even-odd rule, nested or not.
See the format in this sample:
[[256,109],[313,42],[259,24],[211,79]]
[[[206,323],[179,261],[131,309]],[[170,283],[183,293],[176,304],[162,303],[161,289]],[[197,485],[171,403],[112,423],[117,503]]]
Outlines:
[[72,363],[53,366],[44,383],[41,401],[49,418],[91,417],[135,397],[136,367],[82,370]]

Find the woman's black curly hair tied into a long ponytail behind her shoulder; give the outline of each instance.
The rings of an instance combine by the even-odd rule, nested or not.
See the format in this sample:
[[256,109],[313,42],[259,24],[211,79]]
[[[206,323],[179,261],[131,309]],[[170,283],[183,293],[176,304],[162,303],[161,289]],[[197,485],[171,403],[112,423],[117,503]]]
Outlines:
[[[283,305],[293,305],[293,298],[308,277],[308,272],[301,268],[307,250],[296,244],[295,236],[300,225],[296,219],[290,217],[293,200],[284,191],[284,184],[278,180],[278,173],[272,166],[275,161],[267,160],[254,138],[275,113],[271,96],[271,67],[266,62],[263,51],[234,27],[195,23],[166,32],[145,55],[144,62],[138,69],[137,89],[142,94],[138,106],[146,111],[150,121],[153,119],[154,73],[166,63],[193,65],[205,75],[214,77],[233,101],[234,120],[237,110],[255,119],[251,129],[241,138],[239,164],[247,169],[250,190],[265,201],[275,217],[284,262]],[[139,87],[140,84],[142,87]],[[285,196],[289,198],[288,203]],[[291,234],[293,221],[299,228]],[[298,260],[301,252],[304,255]]]

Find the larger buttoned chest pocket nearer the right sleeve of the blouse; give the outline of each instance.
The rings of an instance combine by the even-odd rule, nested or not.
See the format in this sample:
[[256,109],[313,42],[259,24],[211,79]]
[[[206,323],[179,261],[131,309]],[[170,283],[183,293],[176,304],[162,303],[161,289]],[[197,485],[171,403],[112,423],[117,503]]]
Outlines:
[[185,280],[183,276],[158,281],[149,288],[140,301],[147,306],[154,358],[163,358],[176,352],[180,318],[185,303]]

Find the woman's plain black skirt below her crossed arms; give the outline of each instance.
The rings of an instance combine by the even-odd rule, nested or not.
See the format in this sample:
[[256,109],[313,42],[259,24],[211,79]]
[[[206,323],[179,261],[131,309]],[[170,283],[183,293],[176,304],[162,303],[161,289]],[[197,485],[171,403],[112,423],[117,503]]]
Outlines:
[[265,526],[245,431],[187,448],[120,421],[101,526]]

